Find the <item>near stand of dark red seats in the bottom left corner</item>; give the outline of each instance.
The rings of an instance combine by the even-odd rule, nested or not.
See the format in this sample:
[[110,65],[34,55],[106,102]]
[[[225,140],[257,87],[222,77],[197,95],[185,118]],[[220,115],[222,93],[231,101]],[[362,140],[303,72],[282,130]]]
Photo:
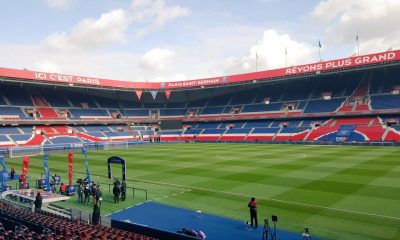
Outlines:
[[153,238],[117,228],[75,222],[52,213],[39,213],[0,201],[0,239],[133,239]]

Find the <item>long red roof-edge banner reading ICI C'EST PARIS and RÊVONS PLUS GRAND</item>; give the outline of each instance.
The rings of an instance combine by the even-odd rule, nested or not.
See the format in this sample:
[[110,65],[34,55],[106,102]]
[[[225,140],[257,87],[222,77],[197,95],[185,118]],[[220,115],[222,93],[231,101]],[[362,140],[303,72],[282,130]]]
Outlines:
[[[274,77],[284,77],[290,75],[317,73],[328,70],[341,68],[358,67],[370,64],[391,62],[400,60],[400,50],[381,52],[363,56],[349,57],[325,62],[318,62],[288,68],[280,68],[275,70],[267,70],[253,73],[245,73],[238,75],[222,76],[205,78],[198,80],[179,81],[179,82],[132,82],[109,80],[93,77],[72,76],[57,73],[45,73],[28,70],[17,70],[10,68],[0,68],[0,76],[9,78],[19,78],[21,80],[47,81],[65,83],[68,85],[91,85],[100,87],[113,88],[129,88],[129,89],[176,89],[176,88],[191,88],[219,84],[229,84],[243,81],[253,81],[258,79],[267,79]],[[141,91],[141,90],[140,90]],[[137,94],[137,93],[136,93]]]

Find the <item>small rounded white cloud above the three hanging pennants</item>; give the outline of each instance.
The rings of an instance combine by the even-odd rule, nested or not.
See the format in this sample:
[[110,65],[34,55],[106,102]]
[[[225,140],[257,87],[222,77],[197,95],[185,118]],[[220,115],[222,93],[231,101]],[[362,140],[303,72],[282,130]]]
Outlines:
[[141,63],[149,71],[165,70],[174,55],[170,49],[154,48],[143,55]]

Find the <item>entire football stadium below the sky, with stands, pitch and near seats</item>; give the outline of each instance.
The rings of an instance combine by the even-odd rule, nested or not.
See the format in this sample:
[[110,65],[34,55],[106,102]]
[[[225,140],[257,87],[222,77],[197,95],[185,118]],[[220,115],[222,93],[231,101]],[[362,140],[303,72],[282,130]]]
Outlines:
[[[211,239],[301,239],[308,228],[321,239],[398,239],[399,60],[390,51],[168,83],[1,68],[3,233],[186,239],[171,236],[186,227]],[[79,179],[100,185],[100,228],[82,226],[93,202],[79,202]],[[37,189],[54,196],[32,213]],[[245,224],[252,196],[255,230]]]

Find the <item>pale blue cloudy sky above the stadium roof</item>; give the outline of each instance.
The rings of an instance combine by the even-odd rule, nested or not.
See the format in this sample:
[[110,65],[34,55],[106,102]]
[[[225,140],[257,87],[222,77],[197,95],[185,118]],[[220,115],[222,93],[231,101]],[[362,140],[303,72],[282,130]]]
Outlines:
[[[399,0],[6,1],[0,66],[177,81],[400,48]],[[258,61],[256,61],[258,56]]]

